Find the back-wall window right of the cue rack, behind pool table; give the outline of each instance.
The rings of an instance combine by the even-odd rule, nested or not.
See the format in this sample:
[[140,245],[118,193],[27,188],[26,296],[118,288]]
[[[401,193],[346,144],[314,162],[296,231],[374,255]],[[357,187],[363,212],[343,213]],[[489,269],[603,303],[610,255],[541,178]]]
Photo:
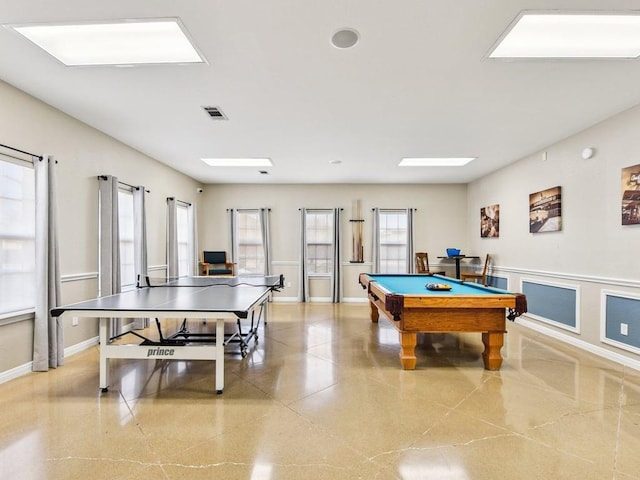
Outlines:
[[407,212],[380,210],[380,273],[407,273]]

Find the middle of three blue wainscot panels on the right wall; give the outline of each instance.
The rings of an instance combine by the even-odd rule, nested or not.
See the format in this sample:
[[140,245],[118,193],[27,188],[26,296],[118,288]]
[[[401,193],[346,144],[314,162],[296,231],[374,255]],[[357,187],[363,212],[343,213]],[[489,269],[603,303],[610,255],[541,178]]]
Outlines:
[[574,289],[523,281],[522,293],[527,296],[529,313],[577,328]]

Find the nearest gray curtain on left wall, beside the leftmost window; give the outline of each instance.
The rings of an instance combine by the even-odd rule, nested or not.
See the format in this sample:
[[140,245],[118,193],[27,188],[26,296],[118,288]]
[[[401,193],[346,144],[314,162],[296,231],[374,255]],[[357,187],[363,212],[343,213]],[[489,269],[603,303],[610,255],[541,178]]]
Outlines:
[[49,314],[60,301],[56,161],[45,156],[34,162],[36,184],[36,312],[33,329],[33,370],[45,372],[64,365],[63,329]]

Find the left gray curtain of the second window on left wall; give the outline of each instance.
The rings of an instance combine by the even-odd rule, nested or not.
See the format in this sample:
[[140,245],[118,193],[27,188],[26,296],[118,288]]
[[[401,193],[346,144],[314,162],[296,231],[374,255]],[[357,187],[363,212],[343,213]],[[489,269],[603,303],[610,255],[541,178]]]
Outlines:
[[[100,265],[99,265],[99,295],[113,295],[120,293],[120,235],[118,229],[118,179],[111,175],[98,177],[99,193],[99,236],[100,236]],[[112,319],[109,330],[110,336],[122,332],[122,319]]]

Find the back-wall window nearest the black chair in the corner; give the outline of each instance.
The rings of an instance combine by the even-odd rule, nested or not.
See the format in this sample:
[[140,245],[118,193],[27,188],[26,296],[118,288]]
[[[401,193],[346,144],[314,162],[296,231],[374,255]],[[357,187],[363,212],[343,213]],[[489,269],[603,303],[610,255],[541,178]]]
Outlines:
[[238,274],[264,273],[260,210],[238,211]]

